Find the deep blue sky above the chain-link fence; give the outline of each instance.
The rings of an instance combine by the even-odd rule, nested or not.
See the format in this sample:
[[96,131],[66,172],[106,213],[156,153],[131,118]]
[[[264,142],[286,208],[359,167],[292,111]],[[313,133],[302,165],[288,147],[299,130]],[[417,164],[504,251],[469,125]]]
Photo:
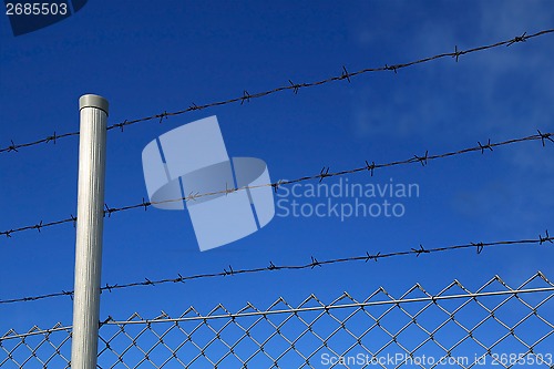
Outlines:
[[[0,17],[0,145],[79,129],[78,99],[105,96],[109,123],[172,112],[349,71],[507,40],[554,24],[548,1],[226,2],[91,1],[52,27],[13,37]],[[370,73],[298,94],[143,122],[107,139],[106,203],[147,197],[141,153],[174,127],[217,115],[230,156],[263,158],[273,181],[438,154],[553,132],[554,48],[544,35],[510,48]],[[75,137],[0,155],[1,230],[75,214]],[[105,221],[103,284],[275,264],[305,264],[366,252],[533,238],[552,229],[554,146],[538,142],[348,176],[350,183],[418,184],[402,217],[275,217],[260,232],[199,253],[186,212],[150,208]],[[346,177],[343,177],[345,180]],[[338,178],[326,178],[329,185]],[[315,199],[302,199],[314,202]],[[317,201],[317,199],[316,199]],[[0,239],[0,298],[73,287],[71,225]],[[494,275],[517,285],[552,273],[548,247],[513,246],[264,273],[102,296],[101,317],[153,317],[194,305],[236,310],[310,294],[360,299],[379,286],[401,295],[416,283],[438,291],[453,279],[479,287]],[[10,328],[71,324],[72,303],[54,298],[0,306]]]

